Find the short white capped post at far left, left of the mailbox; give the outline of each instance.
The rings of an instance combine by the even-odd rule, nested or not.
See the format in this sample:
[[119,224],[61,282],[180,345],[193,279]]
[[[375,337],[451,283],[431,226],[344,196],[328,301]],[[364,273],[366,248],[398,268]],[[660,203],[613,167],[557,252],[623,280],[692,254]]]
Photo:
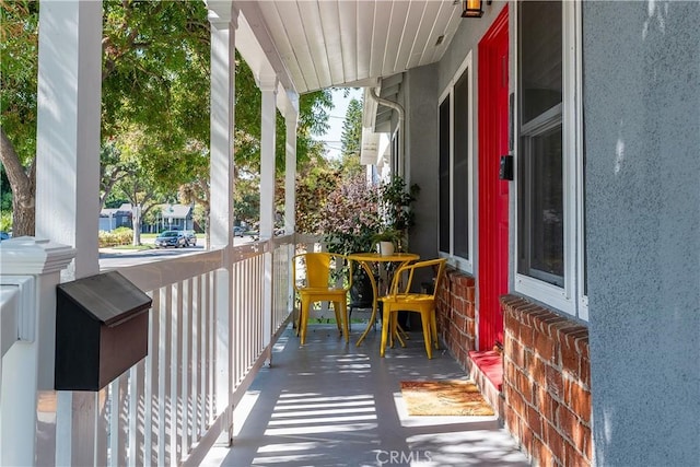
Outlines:
[[[38,389],[54,387],[56,285],[74,254],[67,245],[33,237],[0,244],[1,283],[25,289],[19,303],[19,328],[13,330],[19,340],[2,357],[0,465],[55,462],[56,436],[50,433],[55,428],[48,430],[49,440],[37,436],[37,394]],[[42,422],[50,423],[45,419]]]

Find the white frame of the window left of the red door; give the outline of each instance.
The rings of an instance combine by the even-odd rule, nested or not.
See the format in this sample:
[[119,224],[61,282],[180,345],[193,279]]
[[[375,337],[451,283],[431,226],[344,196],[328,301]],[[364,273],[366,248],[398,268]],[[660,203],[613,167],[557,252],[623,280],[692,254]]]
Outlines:
[[[455,141],[455,100],[454,100],[454,93],[455,93],[455,85],[457,84],[457,82],[459,81],[459,79],[463,77],[464,73],[467,73],[466,75],[466,82],[467,82],[467,100],[468,100],[468,105],[467,105],[467,183],[468,183],[468,187],[467,187],[467,194],[468,194],[468,202],[467,202],[467,235],[468,235],[468,240],[467,240],[467,249],[468,249],[468,258],[464,258],[460,256],[456,256],[454,254],[454,249],[455,249],[455,199],[454,199],[454,195],[455,195],[455,179],[454,179],[454,175],[455,175],[455,153],[454,153],[454,141]],[[475,190],[475,182],[474,182],[474,177],[475,177],[475,164],[474,164],[474,137],[475,137],[475,97],[474,97],[474,86],[475,86],[475,82],[474,82],[474,61],[472,61],[472,52],[471,50],[467,54],[467,56],[465,57],[464,61],[459,65],[459,67],[457,68],[457,70],[455,71],[455,73],[453,74],[452,79],[450,80],[450,82],[447,83],[447,85],[445,86],[445,89],[443,90],[443,92],[440,94],[439,98],[438,98],[438,108],[440,108],[440,106],[445,102],[445,100],[450,100],[450,221],[448,221],[448,225],[450,225],[450,252],[443,252],[443,250],[439,250],[439,256],[441,258],[447,258],[447,262],[464,271],[464,272],[468,272],[468,273],[474,273],[474,257],[475,257],[475,197],[476,195],[476,190]],[[439,113],[440,114],[440,113]],[[442,122],[439,121],[439,125],[442,125]],[[439,180],[440,183],[440,180]],[[440,238],[440,229],[441,229],[441,224],[442,224],[442,219],[439,219],[438,222],[438,238]],[[440,247],[440,246],[439,246]]]

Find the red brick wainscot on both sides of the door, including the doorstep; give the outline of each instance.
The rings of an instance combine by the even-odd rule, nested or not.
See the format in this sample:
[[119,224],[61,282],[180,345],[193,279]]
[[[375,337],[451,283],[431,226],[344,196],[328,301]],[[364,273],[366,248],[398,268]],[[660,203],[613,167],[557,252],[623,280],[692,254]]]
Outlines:
[[441,340],[534,464],[591,465],[587,328],[524,297],[503,295],[503,351],[476,351],[475,291],[472,277],[447,270],[439,292]]

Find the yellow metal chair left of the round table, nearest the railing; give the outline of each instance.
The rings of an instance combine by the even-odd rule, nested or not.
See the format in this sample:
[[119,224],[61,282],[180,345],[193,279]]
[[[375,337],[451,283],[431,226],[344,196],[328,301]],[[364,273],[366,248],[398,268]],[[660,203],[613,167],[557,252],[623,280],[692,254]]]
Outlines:
[[296,335],[301,335],[302,345],[306,341],[310,307],[316,302],[332,303],[338,331],[345,334],[346,342],[350,341],[347,295],[352,285],[352,271],[348,273],[348,269],[352,266],[348,262],[343,255],[334,253],[302,253],[294,256],[294,290],[301,297]]

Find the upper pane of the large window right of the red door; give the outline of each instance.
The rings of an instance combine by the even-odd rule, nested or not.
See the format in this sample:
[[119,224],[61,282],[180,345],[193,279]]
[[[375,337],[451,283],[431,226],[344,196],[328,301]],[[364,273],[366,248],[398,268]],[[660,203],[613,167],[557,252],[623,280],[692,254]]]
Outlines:
[[561,102],[561,2],[521,7],[521,125]]

